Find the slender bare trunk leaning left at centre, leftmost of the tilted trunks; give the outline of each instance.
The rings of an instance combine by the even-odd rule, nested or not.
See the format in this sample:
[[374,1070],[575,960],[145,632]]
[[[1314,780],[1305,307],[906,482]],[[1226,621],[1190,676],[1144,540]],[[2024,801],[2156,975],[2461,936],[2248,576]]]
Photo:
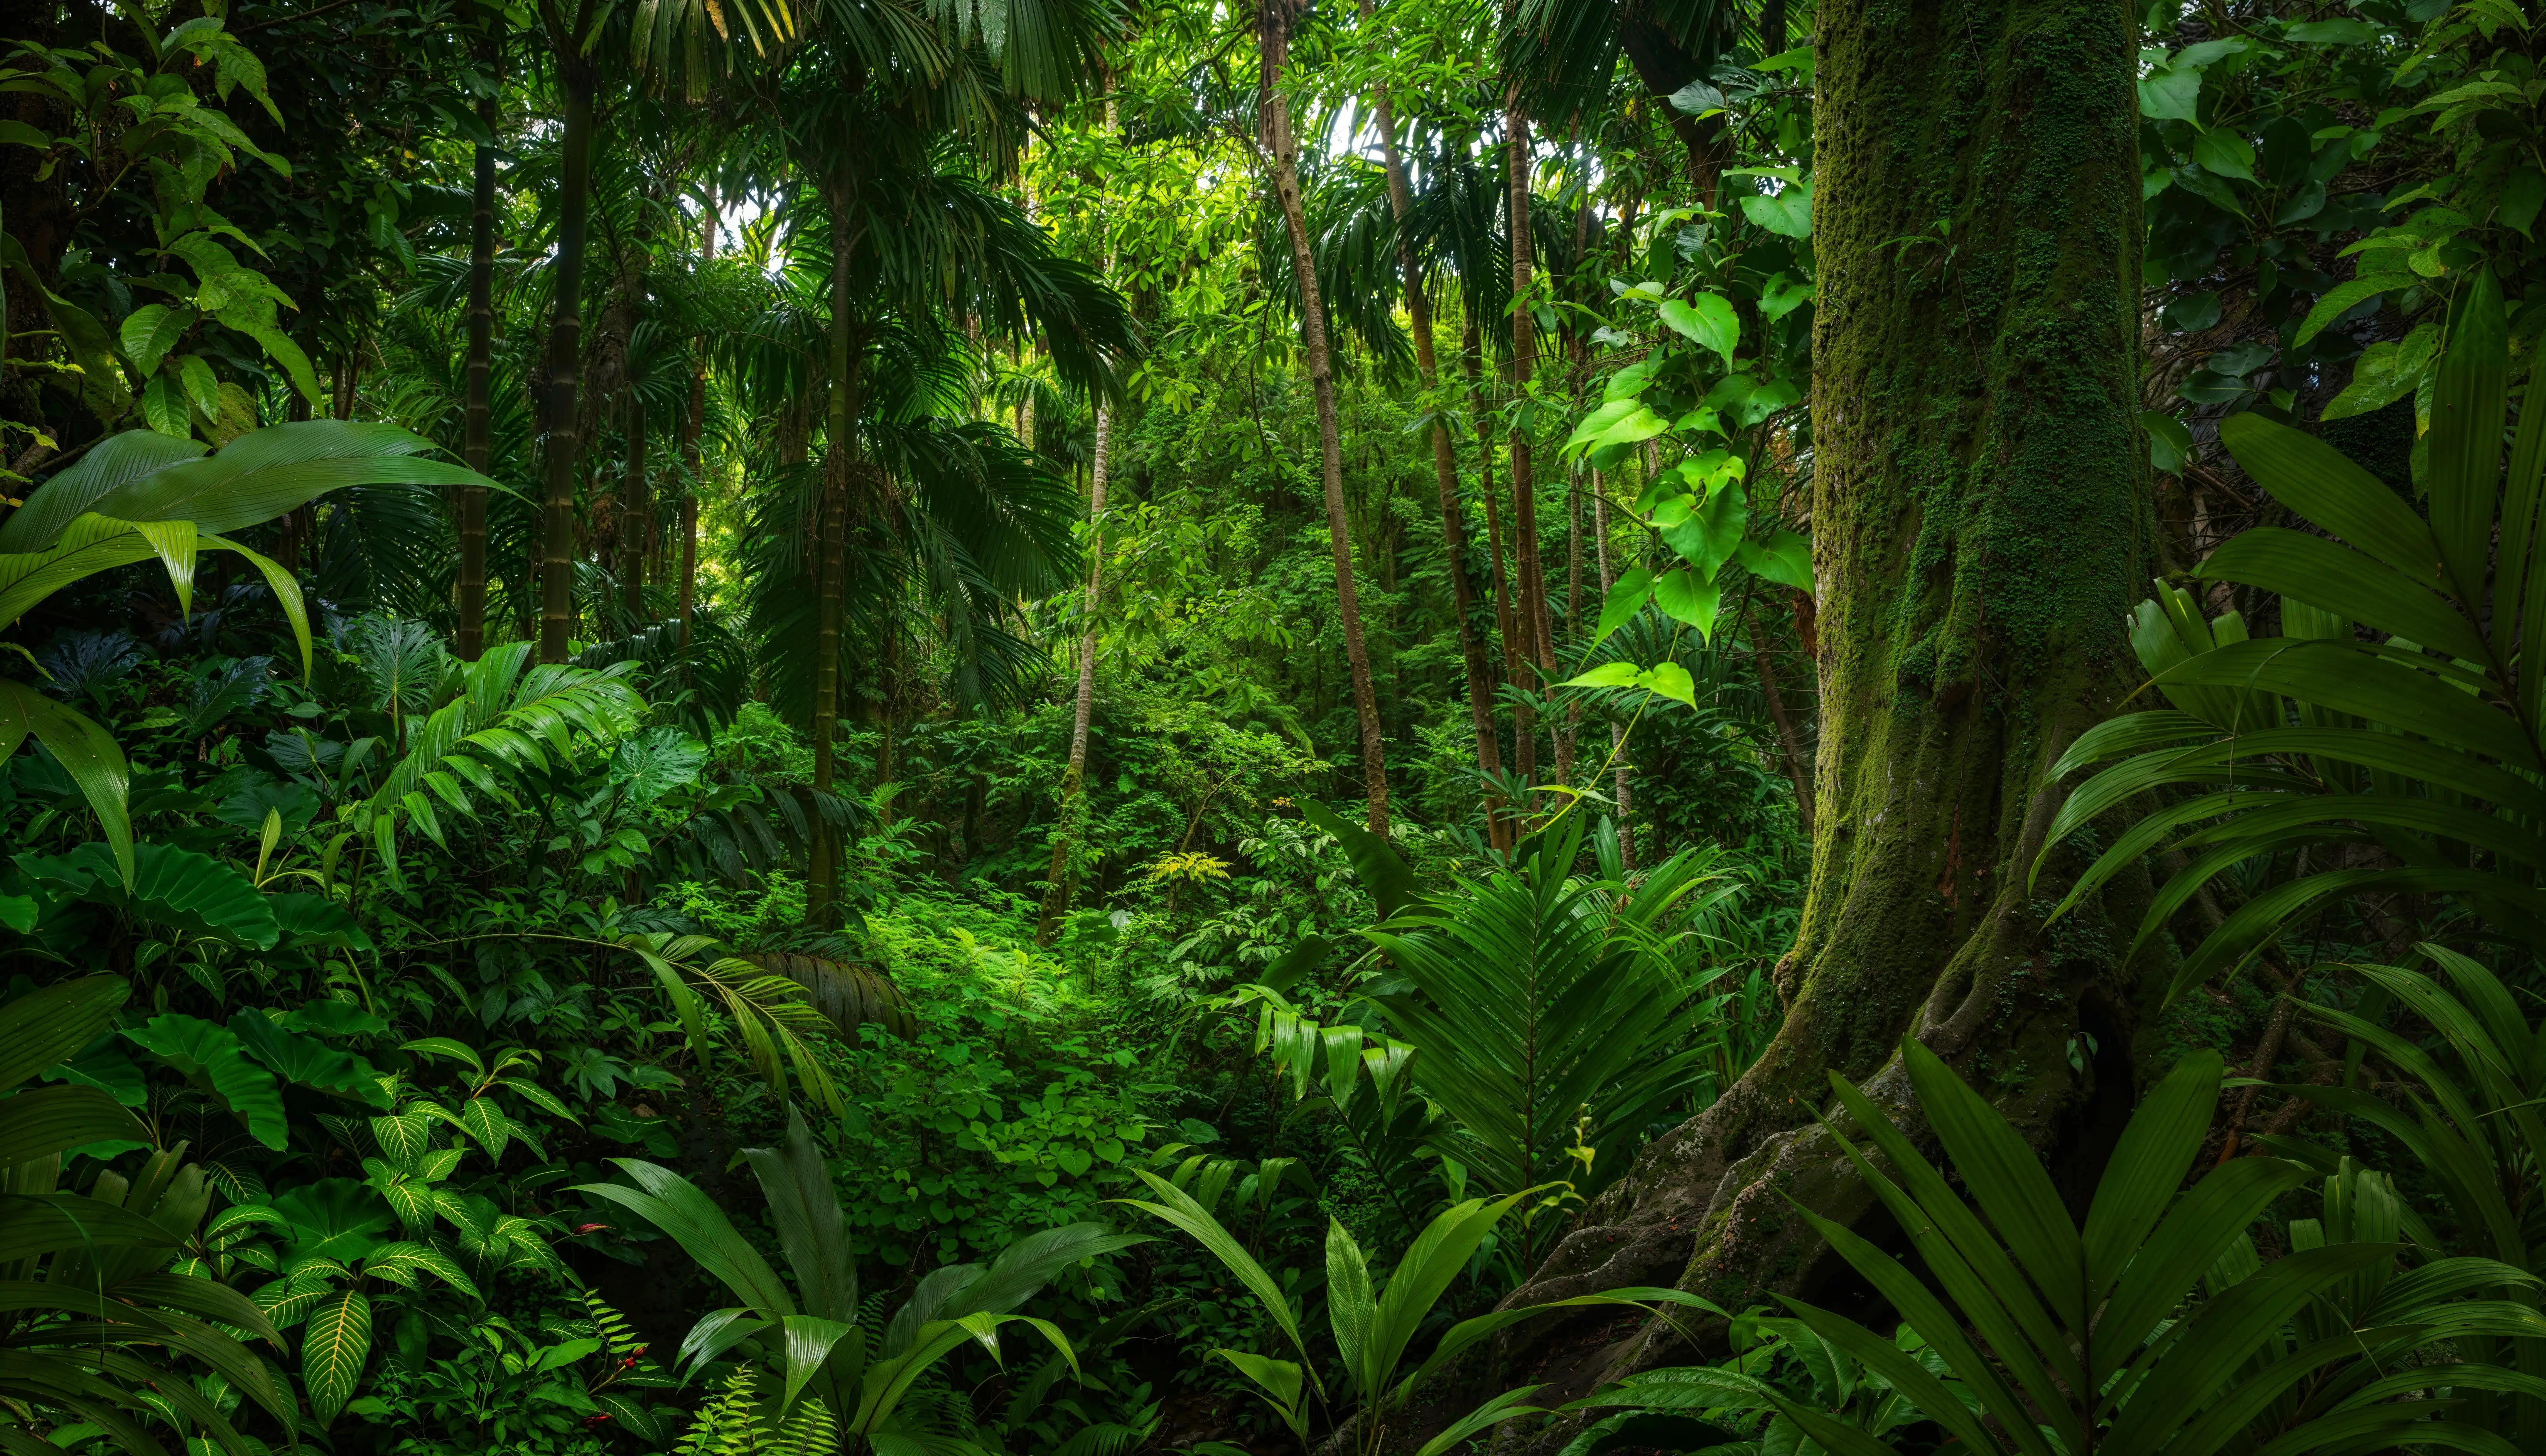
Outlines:
[[[1334,364],[1326,351],[1326,308],[1316,293],[1316,260],[1309,252],[1309,216],[1298,196],[1298,137],[1291,135],[1291,102],[1281,94],[1281,66],[1291,43],[1291,0],[1265,0],[1260,84],[1255,109],[1263,143],[1273,160],[1273,191],[1283,224],[1291,229],[1291,277],[1298,280],[1301,339],[1309,354],[1309,384],[1316,392],[1316,443],[1326,476],[1326,542],[1334,550],[1334,598],[1344,624],[1344,662],[1352,667],[1352,708],[1362,720],[1362,787],[1370,797],[1370,832],[1388,832],[1388,753],[1380,728],[1380,695],[1370,680],[1370,649],[1362,644],[1362,593],[1352,583],[1352,519],[1344,512],[1344,445],[1334,415]],[[1276,18],[1278,15],[1278,18]]]

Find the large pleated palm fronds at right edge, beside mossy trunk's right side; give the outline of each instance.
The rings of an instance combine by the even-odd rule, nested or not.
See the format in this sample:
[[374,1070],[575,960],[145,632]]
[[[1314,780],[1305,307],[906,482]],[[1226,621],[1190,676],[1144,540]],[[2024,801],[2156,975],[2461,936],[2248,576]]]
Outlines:
[[2238,865],[2291,855],[2291,878],[2233,906],[2169,995],[2243,965],[2291,919],[2378,891],[2457,896],[2498,934],[2546,947],[2546,374],[2531,369],[2505,468],[2508,359],[2485,272],[2457,300],[2431,392],[2426,514],[2314,435],[2258,412],[2220,425],[2274,501],[2322,532],[2256,527],[2195,573],[2279,593],[2281,636],[2251,636],[2233,611],[2202,621],[2187,591],[2159,583],[2131,647],[2172,708],[2078,736],[2055,771],[2103,769],[2034,860],[2039,878],[2095,817],[2192,789],[2139,812],[2060,901],[2078,906],[2149,853],[2182,855],[2136,949]]

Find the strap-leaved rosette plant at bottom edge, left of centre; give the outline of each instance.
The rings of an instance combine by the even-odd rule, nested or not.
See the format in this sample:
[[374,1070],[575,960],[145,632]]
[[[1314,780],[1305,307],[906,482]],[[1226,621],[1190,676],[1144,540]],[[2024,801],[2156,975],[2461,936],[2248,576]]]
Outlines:
[[690,1326],[682,1357],[693,1369],[728,1352],[759,1357],[779,1380],[771,1420],[787,1420],[799,1397],[812,1397],[848,1443],[883,1456],[927,1448],[911,1425],[906,1395],[937,1362],[978,1341],[998,1357],[998,1329],[1023,1324],[1074,1359],[1069,1339],[1049,1321],[1016,1313],[1059,1270],[1138,1242],[1102,1224],[1067,1224],[1026,1235],[990,1265],[942,1265],[919,1278],[909,1301],[876,1326],[858,1293],[858,1260],[830,1179],[830,1161],[789,1105],[779,1148],[746,1148],[769,1199],[779,1250],[794,1291],[698,1184],[639,1161],[611,1158],[636,1186],[583,1184],[573,1191],[619,1204],[657,1229],[715,1275],[741,1303],[710,1311]]

